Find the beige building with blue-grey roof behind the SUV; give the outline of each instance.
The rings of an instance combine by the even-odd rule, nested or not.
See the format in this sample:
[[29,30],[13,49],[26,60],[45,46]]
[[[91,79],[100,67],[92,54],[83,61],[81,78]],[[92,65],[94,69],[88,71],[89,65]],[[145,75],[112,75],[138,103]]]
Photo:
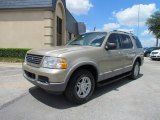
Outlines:
[[65,0],[0,0],[0,48],[50,48],[85,31]]

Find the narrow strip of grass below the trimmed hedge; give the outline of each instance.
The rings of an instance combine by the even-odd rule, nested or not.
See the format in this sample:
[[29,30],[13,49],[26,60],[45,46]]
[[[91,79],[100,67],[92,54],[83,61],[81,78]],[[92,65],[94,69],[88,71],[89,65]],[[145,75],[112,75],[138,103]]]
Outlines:
[[21,62],[24,62],[24,59],[10,58],[10,57],[0,57],[0,62],[21,63]]

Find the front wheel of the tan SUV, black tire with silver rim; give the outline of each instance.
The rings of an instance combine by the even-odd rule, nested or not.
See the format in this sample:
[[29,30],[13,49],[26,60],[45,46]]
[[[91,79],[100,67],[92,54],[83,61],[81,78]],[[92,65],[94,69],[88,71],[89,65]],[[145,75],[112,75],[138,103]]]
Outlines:
[[76,71],[69,81],[65,95],[67,99],[75,104],[87,102],[94,92],[95,79],[88,70]]

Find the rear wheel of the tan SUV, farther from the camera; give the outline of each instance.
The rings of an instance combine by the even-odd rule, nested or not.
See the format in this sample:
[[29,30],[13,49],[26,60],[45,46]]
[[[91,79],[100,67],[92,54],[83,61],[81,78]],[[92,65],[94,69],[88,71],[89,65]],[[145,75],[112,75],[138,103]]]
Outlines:
[[133,80],[137,79],[139,76],[139,73],[140,73],[140,63],[136,61],[133,65],[133,69],[131,71],[130,78]]

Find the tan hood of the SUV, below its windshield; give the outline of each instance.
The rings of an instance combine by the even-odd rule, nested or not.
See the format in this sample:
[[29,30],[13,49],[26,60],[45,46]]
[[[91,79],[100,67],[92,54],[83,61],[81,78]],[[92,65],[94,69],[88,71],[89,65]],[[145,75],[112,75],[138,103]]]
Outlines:
[[80,51],[84,49],[91,49],[91,46],[59,46],[53,47],[51,49],[41,49],[41,50],[31,50],[29,54],[36,54],[36,55],[45,55],[45,56],[55,56],[57,57],[60,54]]

